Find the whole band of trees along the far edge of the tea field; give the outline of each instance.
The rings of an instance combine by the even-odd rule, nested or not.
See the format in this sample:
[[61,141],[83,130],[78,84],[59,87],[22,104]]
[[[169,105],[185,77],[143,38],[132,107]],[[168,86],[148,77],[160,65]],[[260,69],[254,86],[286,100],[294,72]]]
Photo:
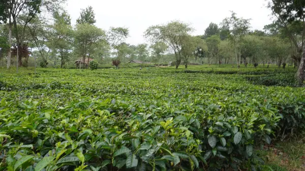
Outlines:
[[[100,61],[132,59],[155,63],[173,60],[176,69],[190,61],[207,64],[259,64],[298,67],[297,79],[305,79],[304,7],[301,0],[270,0],[268,8],[274,20],[263,30],[251,30],[250,20],[231,16],[219,24],[210,23],[202,35],[192,36],[194,28],[181,21],[153,25],[144,32],[148,44],[130,45],[126,27],[98,28],[92,7],[82,9],[76,25],[62,8],[65,0],[0,0],[0,47],[2,61],[9,68],[18,56],[18,65],[27,66],[29,56],[46,67],[50,60],[60,67],[77,58],[85,67],[90,58]],[[46,12],[52,18],[46,17]],[[17,55],[18,51],[18,55]],[[165,57],[171,56],[165,60]],[[72,61],[73,62],[73,61]],[[55,63],[54,63],[55,64]]]

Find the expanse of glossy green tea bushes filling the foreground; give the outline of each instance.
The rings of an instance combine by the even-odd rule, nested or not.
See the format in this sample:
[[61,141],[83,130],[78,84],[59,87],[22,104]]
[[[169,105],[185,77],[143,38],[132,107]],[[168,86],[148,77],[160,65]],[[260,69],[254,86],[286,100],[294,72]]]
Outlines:
[[276,170],[305,127],[288,69],[0,69],[0,170]]

